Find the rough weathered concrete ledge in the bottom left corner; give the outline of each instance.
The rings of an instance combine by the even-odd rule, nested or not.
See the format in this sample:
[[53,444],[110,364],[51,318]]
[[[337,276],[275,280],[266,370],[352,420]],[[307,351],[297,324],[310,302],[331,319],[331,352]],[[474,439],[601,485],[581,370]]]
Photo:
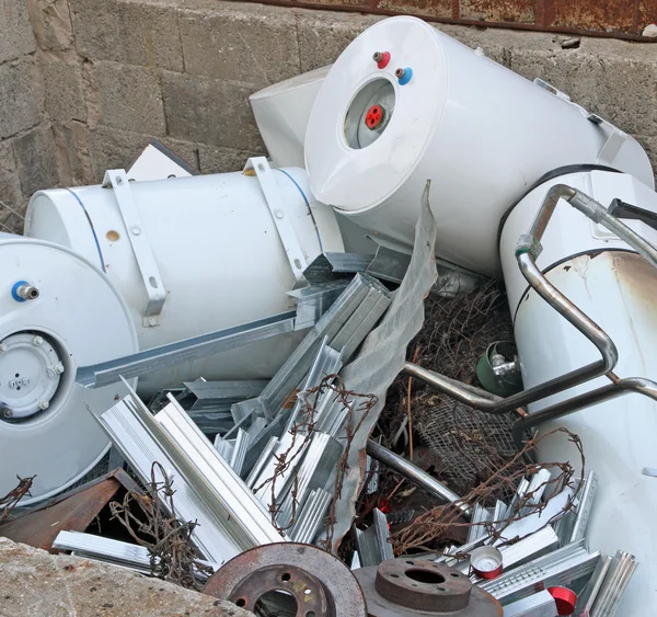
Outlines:
[[234,604],[97,561],[0,538],[1,617],[253,617]]

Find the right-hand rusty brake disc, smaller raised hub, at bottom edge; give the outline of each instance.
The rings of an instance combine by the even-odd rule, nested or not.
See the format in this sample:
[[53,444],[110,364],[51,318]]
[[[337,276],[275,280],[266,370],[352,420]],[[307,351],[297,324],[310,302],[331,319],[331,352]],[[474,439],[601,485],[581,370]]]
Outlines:
[[502,617],[502,605],[449,565],[410,558],[354,570],[370,617]]

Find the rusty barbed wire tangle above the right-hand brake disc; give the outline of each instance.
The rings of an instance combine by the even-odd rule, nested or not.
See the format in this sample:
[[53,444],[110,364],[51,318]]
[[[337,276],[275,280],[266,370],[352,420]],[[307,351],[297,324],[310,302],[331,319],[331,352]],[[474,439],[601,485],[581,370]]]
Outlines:
[[[410,550],[431,550],[429,545],[439,542],[446,537],[448,532],[453,532],[454,527],[469,528],[475,525],[485,527],[487,535],[493,536],[496,540],[502,539],[503,542],[499,546],[515,544],[525,536],[505,537],[504,533],[511,523],[526,518],[534,513],[543,512],[551,499],[554,499],[566,489],[570,489],[573,494],[567,499],[565,506],[560,513],[546,521],[545,525],[556,523],[556,521],[573,510],[575,500],[579,493],[581,484],[574,481],[576,473],[575,467],[570,465],[570,462],[565,461],[541,464],[521,464],[521,461],[530,450],[533,450],[545,438],[560,434],[562,436],[565,435],[565,438],[567,438],[577,449],[580,459],[581,477],[584,478],[586,476],[586,458],[579,437],[563,427],[550,431],[540,437],[528,441],[525,447],[511,460],[462,498],[462,502],[468,503],[472,507],[477,504],[483,505],[491,494],[495,494],[499,491],[500,484],[506,489],[512,489],[515,493],[521,479],[535,473],[539,469],[550,470],[553,473],[553,477],[537,487],[535,490],[531,492],[528,491],[520,496],[514,503],[514,511],[510,515],[505,516],[499,521],[472,524],[463,521],[453,504],[442,504],[433,507],[415,518],[410,526],[392,535],[395,555],[403,555]],[[540,501],[537,499],[538,493],[544,493],[548,490],[551,491],[548,500]],[[451,557],[462,558],[465,557],[465,555],[456,552]]]

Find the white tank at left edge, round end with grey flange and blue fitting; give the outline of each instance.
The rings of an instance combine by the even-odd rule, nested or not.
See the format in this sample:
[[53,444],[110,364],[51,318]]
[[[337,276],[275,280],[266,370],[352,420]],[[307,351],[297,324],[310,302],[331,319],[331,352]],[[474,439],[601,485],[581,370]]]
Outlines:
[[76,370],[137,352],[137,335],[110,278],[71,250],[0,233],[0,495],[16,476],[36,476],[21,500],[27,505],[76,482],[107,452],[85,405],[104,411],[125,390],[85,390]]

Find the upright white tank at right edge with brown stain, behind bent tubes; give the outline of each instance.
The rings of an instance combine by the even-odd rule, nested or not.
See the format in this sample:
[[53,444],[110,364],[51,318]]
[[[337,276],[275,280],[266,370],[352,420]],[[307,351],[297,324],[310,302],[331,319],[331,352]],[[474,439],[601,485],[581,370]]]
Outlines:
[[[531,192],[511,212],[502,233],[500,254],[516,343],[526,388],[558,377],[600,357],[584,334],[543,301],[520,274],[514,256],[550,186],[563,183],[608,206],[619,198],[657,213],[657,194],[637,180],[595,171],[562,176]],[[657,231],[639,220],[624,220],[657,244]],[[619,377],[657,378],[657,270],[599,225],[566,203],[560,203],[541,241],[538,265],[577,307],[598,323],[619,351]],[[604,377],[529,405],[534,412],[595,387]],[[657,468],[657,403],[626,395],[545,424],[545,433],[565,426],[581,438],[586,471],[593,470],[599,487],[588,523],[592,550],[636,556],[636,570],[619,615],[652,617],[657,606],[657,478],[642,473]],[[563,435],[540,445],[544,461],[578,466],[579,454]]]

